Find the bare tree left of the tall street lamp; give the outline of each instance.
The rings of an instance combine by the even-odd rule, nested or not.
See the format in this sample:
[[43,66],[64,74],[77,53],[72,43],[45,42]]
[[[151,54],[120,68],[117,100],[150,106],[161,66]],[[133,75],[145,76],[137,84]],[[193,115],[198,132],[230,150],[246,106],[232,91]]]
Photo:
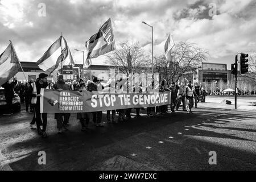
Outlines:
[[141,73],[146,69],[146,55],[139,43],[121,43],[119,48],[106,56],[106,63],[114,65],[121,73]]

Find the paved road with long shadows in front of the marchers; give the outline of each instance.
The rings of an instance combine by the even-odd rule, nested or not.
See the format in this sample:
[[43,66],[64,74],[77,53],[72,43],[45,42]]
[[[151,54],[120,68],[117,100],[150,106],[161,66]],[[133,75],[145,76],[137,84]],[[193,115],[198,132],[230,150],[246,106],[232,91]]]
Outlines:
[[[86,132],[72,114],[69,130],[61,135],[49,114],[47,139],[30,129],[31,113],[0,116],[0,169],[256,170],[256,113],[209,98],[193,114],[147,117],[142,110],[142,118],[125,123],[96,128],[90,122]],[[46,152],[46,165],[38,164],[39,151]],[[210,151],[217,154],[216,165],[209,164]]]

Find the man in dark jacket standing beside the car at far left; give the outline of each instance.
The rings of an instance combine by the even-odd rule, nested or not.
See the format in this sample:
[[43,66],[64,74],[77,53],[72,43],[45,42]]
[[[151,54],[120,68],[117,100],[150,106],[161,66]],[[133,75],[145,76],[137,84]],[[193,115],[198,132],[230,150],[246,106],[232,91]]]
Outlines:
[[2,87],[5,89],[5,100],[6,100],[6,110],[5,114],[3,115],[12,115],[12,109],[11,105],[13,104],[13,98],[14,98],[14,86],[17,84],[17,80],[14,78],[13,82],[7,81],[5,84],[2,85]]

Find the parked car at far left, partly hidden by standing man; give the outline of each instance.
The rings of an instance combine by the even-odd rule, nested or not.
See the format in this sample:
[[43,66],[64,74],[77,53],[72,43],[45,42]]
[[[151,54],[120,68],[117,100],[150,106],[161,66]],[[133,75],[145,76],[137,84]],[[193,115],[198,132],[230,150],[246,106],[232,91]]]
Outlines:
[[[5,110],[6,109],[6,100],[5,100],[5,89],[0,87],[0,110]],[[20,98],[19,95],[14,93],[14,98],[13,98],[13,105],[11,107],[13,111],[19,111],[20,110]]]

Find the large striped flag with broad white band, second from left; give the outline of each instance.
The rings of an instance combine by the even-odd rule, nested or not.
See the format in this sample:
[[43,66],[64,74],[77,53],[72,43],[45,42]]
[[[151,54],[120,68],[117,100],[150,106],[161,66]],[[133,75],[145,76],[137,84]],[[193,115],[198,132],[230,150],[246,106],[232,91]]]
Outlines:
[[61,61],[62,65],[75,65],[67,41],[63,36],[60,36],[60,38],[48,48],[36,64],[38,64],[39,68],[43,69],[48,75],[51,75],[56,69],[61,69]]

